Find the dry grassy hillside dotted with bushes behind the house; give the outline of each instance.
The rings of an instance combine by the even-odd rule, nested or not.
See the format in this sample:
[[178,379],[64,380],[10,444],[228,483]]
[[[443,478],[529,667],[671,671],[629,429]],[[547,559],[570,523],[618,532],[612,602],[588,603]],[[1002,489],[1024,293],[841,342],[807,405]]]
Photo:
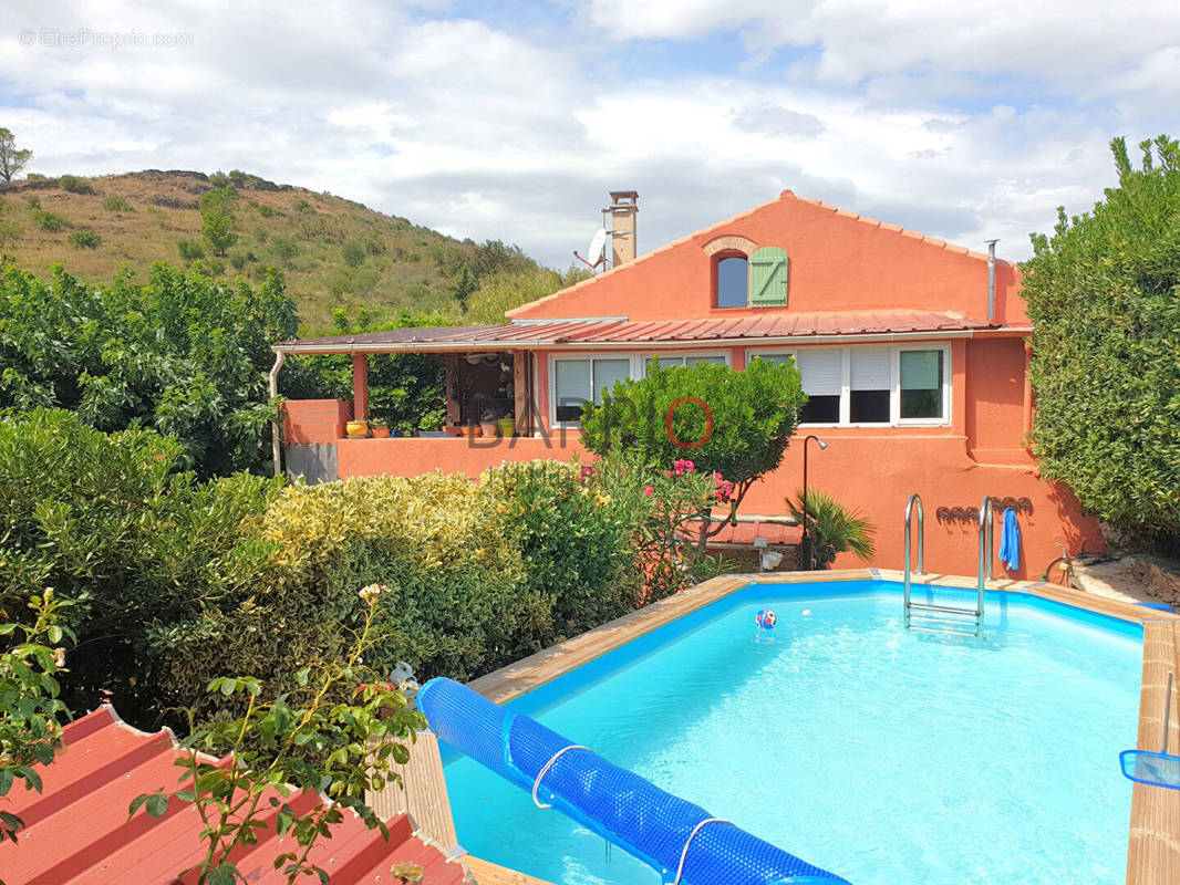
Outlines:
[[[237,192],[236,242],[223,256],[203,240],[198,206],[218,186]],[[303,334],[330,329],[339,307],[349,314],[363,307],[375,323],[400,309],[458,317],[460,286],[474,289],[497,271],[537,271],[517,247],[458,241],[349,199],[237,171],[13,182],[0,186],[0,253],[37,274],[60,262],[87,281],[110,281],[123,266],[143,278],[156,261],[225,282],[257,281],[264,268],[276,267],[299,306]]]

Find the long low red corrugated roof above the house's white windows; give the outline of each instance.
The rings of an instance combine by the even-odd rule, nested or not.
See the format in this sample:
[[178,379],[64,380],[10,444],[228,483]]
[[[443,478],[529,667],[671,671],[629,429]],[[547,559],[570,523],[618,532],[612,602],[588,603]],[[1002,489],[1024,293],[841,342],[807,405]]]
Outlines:
[[499,326],[440,326],[389,329],[282,341],[287,353],[372,350],[471,350],[490,347],[569,345],[708,345],[725,341],[807,339],[830,335],[963,333],[1001,328],[955,313],[932,310],[853,310],[820,314],[772,314],[713,320],[551,320]]

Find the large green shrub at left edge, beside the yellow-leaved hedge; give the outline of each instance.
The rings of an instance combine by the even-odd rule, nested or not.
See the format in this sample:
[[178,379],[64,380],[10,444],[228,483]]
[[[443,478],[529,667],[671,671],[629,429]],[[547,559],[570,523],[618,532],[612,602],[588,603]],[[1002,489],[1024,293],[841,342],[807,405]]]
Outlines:
[[63,686],[73,709],[111,693],[124,715],[155,727],[155,715],[188,704],[199,691],[173,690],[190,687],[168,658],[204,638],[181,625],[245,598],[269,559],[256,525],[277,480],[198,484],[177,471],[178,455],[151,431],[103,433],[68,412],[0,419],[0,608],[46,586],[74,601],[64,623],[79,643]]

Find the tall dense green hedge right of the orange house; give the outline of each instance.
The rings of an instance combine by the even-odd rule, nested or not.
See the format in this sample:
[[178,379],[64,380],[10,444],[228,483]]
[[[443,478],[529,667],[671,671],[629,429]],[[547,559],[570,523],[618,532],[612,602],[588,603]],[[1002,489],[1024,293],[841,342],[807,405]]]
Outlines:
[[1180,536],[1180,146],[1143,142],[1088,214],[1032,235],[1034,451],[1047,479],[1140,537]]

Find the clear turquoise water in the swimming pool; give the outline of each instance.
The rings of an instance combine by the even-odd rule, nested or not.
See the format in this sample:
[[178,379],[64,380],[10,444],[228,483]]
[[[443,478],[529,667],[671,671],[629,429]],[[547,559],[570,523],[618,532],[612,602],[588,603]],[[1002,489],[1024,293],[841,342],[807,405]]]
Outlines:
[[[853,885],[1113,884],[1141,647],[1031,597],[989,596],[977,640],[904,630],[896,584],[763,584],[511,707]],[[660,881],[466,758],[446,778],[472,854],[560,885]]]

